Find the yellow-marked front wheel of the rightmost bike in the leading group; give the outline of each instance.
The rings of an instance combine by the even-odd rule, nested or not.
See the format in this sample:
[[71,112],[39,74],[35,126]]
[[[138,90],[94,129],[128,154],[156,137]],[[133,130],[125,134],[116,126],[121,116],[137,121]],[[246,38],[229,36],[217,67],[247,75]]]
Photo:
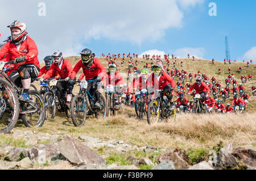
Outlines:
[[147,123],[148,124],[156,124],[160,119],[160,111],[159,111],[159,102],[156,100],[152,100],[150,104],[148,104],[147,110]]

